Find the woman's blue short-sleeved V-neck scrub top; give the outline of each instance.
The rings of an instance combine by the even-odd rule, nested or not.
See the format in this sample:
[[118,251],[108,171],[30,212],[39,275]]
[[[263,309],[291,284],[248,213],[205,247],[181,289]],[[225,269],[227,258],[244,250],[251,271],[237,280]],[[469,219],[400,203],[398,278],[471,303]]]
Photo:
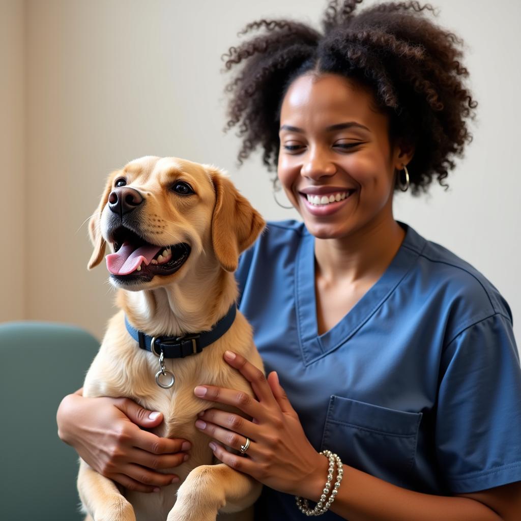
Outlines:
[[[427,494],[519,481],[510,308],[476,269],[400,225],[406,235],[390,266],[319,336],[314,237],[301,222],[268,224],[236,273],[266,373],[277,371],[314,448],[346,465]],[[293,496],[265,487],[256,518],[306,516]]]

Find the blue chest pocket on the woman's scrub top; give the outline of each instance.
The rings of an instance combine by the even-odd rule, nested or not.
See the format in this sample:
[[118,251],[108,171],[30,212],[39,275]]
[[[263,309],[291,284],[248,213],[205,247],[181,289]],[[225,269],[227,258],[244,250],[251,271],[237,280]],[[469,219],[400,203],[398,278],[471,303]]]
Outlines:
[[422,416],[332,395],[321,450],[400,486],[410,478]]

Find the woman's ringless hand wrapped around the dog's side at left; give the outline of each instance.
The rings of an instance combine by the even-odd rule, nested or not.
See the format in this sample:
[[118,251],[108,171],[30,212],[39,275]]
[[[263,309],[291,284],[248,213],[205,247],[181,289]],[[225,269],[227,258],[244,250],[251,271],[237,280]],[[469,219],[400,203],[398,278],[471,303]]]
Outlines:
[[163,415],[128,398],[83,398],[81,389],[61,401],[56,415],[58,436],[103,476],[130,490],[158,491],[179,481],[157,469],[180,465],[190,443],[160,438],[141,427],[156,427]]

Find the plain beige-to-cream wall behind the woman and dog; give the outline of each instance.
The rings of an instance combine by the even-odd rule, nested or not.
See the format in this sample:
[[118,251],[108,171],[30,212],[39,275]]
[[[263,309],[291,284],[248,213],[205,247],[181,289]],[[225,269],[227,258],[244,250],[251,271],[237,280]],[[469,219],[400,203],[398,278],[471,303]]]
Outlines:
[[[482,271],[510,303],[519,338],[521,3],[434,3],[438,22],[466,42],[479,102],[474,142],[450,175],[449,191],[433,185],[427,197],[400,194],[395,215]],[[229,78],[220,73],[220,56],[257,18],[317,26],[326,0],[3,0],[0,6],[10,49],[0,51],[9,76],[0,91],[7,121],[0,141],[7,203],[0,320],[72,322],[102,337],[115,312],[114,291],[103,265],[86,271],[86,222],[108,173],[133,158],[214,163],[229,170],[266,218],[297,217],[275,204],[258,155],[236,166],[239,140],[222,132]]]

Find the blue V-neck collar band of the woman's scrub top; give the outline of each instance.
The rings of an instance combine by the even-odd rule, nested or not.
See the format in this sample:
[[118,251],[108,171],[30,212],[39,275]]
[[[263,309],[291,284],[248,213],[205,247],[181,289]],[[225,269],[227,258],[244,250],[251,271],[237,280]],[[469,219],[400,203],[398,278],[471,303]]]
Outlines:
[[305,365],[315,362],[348,342],[389,297],[416,262],[426,241],[410,226],[402,222],[399,224],[405,230],[405,238],[391,264],[348,314],[321,335],[318,334],[317,327],[315,237],[304,229],[295,264],[295,305]]

